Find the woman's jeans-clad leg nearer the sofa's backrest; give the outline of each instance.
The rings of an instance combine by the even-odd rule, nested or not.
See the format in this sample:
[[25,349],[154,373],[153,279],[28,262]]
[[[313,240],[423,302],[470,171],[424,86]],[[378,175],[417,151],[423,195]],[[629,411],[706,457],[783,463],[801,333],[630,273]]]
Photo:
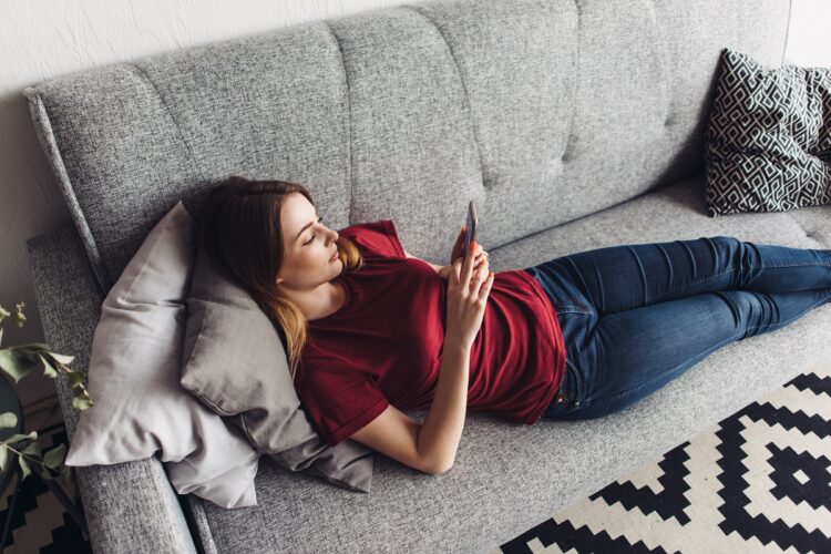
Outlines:
[[831,250],[715,236],[608,246],[552,259],[525,271],[543,285],[555,307],[560,297],[564,304],[591,304],[603,316],[718,290],[829,288]]

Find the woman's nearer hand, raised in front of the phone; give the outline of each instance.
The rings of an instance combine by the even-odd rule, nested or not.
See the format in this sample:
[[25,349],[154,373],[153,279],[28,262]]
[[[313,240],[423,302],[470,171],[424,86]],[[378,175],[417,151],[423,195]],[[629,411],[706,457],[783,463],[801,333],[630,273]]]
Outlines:
[[482,326],[494,274],[488,269],[488,254],[476,243],[449,267],[445,340],[471,348]]

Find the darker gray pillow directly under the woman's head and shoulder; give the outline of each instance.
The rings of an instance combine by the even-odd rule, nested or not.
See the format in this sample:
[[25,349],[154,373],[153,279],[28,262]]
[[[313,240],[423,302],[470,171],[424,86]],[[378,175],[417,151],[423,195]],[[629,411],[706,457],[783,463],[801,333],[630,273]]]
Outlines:
[[182,350],[182,386],[232,417],[257,449],[289,471],[368,493],[373,451],[330,447],[300,407],[277,329],[252,296],[197,247]]

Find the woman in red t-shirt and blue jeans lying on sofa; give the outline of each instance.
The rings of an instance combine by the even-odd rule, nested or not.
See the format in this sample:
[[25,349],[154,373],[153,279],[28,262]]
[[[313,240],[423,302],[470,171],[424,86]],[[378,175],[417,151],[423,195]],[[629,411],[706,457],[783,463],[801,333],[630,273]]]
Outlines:
[[[598,418],[718,348],[831,298],[831,250],[717,236],[598,248],[525,269],[409,255],[391,220],[328,228],[309,192],[230,177],[199,239],[269,315],[306,413],[417,470],[452,466],[468,408]],[[393,406],[394,404],[394,406]],[[429,409],[423,423],[399,410]]]

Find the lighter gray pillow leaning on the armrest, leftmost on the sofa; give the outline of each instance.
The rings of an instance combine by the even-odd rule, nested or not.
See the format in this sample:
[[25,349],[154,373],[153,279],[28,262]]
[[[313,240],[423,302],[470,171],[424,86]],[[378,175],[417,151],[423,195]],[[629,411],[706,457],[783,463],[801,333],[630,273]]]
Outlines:
[[90,353],[93,406],[81,412],[65,463],[110,465],[158,453],[179,494],[252,506],[260,454],[179,384],[195,233],[177,203],[106,295]]

